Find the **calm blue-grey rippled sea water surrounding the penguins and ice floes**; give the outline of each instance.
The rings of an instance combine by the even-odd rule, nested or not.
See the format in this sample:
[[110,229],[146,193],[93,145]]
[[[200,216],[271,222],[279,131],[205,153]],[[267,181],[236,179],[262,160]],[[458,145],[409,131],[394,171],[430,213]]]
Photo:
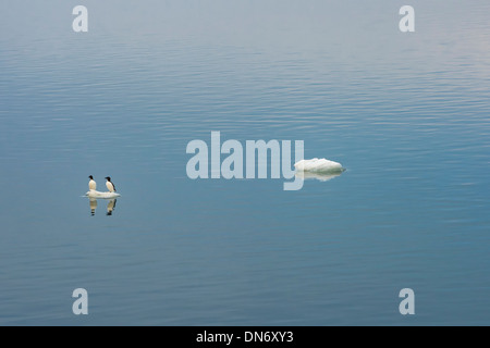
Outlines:
[[[490,3],[404,4],[1,0],[0,325],[490,324]],[[192,181],[212,130],[346,172]]]

